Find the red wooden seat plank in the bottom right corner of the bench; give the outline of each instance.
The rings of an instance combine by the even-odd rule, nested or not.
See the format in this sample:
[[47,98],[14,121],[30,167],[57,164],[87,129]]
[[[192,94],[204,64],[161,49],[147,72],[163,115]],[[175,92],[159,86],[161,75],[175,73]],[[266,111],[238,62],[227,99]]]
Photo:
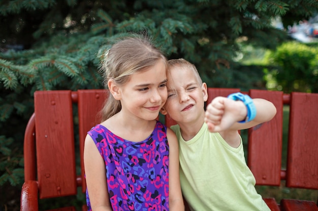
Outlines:
[[306,200],[281,199],[280,206],[283,211],[318,211],[313,201]]

